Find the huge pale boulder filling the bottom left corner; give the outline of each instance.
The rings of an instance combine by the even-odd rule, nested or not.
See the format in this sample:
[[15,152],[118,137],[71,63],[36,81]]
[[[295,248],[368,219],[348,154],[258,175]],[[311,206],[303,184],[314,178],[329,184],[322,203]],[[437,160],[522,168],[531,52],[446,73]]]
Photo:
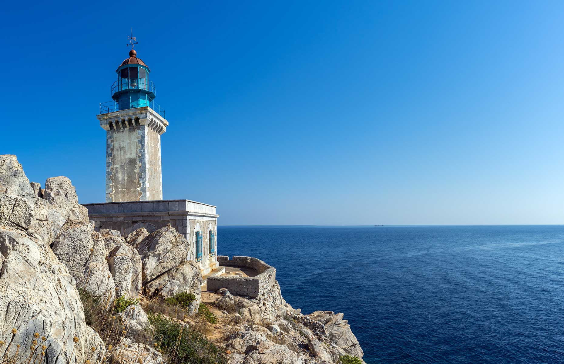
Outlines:
[[0,228],[0,261],[0,334],[11,337],[17,329],[9,354],[16,344],[29,348],[35,332],[47,337],[39,341],[47,346],[47,364],[82,364],[92,357],[91,346],[103,354],[102,339],[86,326],[72,275],[48,245]]

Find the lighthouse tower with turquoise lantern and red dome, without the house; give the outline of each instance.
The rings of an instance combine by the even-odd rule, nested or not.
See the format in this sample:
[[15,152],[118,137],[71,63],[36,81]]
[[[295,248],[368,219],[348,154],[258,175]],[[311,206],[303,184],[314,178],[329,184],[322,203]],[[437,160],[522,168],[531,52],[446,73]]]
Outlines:
[[162,200],[161,135],[169,122],[153,101],[149,67],[131,50],[117,68],[112,101],[100,103],[106,130],[106,202]]

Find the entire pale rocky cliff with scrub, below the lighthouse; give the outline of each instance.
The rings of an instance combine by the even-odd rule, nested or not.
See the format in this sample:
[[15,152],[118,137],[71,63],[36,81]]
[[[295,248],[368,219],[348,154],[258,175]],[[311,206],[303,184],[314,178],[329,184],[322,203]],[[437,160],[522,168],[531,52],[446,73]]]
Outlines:
[[342,314],[303,315],[279,284],[202,292],[170,226],[95,231],[66,177],[0,156],[0,363],[354,363]]

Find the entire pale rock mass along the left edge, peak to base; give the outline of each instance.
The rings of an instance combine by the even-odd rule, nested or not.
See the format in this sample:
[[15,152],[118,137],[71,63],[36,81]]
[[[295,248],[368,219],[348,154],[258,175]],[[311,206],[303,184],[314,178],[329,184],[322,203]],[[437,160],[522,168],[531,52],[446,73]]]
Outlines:
[[86,326],[75,280],[49,247],[54,235],[30,231],[50,214],[60,215],[37,199],[16,157],[0,156],[1,340],[11,343],[8,356],[17,345],[28,352],[36,340],[46,346],[47,364],[95,362],[104,344]]

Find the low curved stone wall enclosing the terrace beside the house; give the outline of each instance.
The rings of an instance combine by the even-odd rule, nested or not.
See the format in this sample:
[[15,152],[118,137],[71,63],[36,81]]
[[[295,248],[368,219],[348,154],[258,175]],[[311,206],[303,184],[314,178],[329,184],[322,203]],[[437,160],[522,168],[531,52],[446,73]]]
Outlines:
[[215,292],[219,288],[227,288],[233,295],[259,297],[270,291],[276,282],[276,269],[260,259],[253,257],[220,255],[217,257],[220,266],[250,268],[257,273],[255,277],[239,277],[236,275],[220,275],[208,277],[208,291]]

